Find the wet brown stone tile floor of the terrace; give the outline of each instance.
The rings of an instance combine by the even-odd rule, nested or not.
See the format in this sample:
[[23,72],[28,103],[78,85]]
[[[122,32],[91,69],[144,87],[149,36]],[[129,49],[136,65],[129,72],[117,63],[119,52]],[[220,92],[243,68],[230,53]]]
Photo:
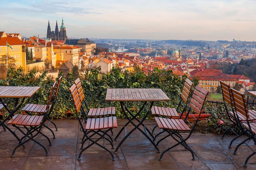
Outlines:
[[[114,129],[115,134],[126,121],[125,119],[118,120],[119,128]],[[229,142],[234,136],[226,135],[225,140],[222,140],[221,135],[202,134],[199,132],[194,132],[187,141],[195,152],[195,161],[191,161],[190,152],[181,146],[168,151],[163,156],[162,161],[158,161],[160,154],[137,130],[123,143],[117,154],[114,154],[115,161],[111,160],[111,156],[107,151],[96,145],[84,151],[81,161],[77,161],[76,158],[81,147],[80,141],[83,136],[82,132],[79,131],[78,120],[62,119],[54,120],[54,122],[59,129],[57,132],[54,131],[56,139],[52,139],[52,134],[47,129],[43,129],[43,132],[51,137],[53,145],[49,146],[47,140],[43,137],[40,139],[40,142],[46,146],[49,156],[45,156],[44,150],[30,141],[26,143],[26,149],[18,148],[15,152],[15,157],[10,157],[17,141],[11,133],[4,132],[0,128],[0,169],[256,169],[256,156],[251,157],[247,168],[243,167],[245,158],[251,153],[247,146],[241,146],[237,151],[237,155],[233,155],[235,146],[245,139],[244,136],[237,139],[233,147],[228,149]],[[147,120],[145,125],[152,129],[155,122]],[[128,126],[127,131],[131,128],[132,126]],[[159,131],[157,128],[156,133]],[[18,131],[16,132],[20,135]],[[117,141],[114,141],[114,147],[118,145],[123,136],[124,133],[120,135]],[[174,140],[170,138],[163,140],[159,149],[163,151],[173,143]],[[252,148],[256,149],[253,141],[248,143]],[[106,147],[111,148],[107,142]]]

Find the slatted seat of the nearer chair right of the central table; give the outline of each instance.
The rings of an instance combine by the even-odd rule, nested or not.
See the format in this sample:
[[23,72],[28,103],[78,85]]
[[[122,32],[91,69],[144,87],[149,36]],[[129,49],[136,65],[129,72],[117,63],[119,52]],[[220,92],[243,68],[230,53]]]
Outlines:
[[190,131],[190,128],[182,119],[155,117],[155,120],[160,129]]

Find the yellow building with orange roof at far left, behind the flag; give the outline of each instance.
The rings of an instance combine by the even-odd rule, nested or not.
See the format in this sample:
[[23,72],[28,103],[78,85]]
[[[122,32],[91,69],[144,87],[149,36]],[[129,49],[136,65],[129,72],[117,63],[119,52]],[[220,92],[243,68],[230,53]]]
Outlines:
[[[7,42],[12,47],[7,47]],[[7,37],[5,32],[0,32],[0,56],[7,55],[15,59],[15,65],[26,70],[26,47],[18,37]]]

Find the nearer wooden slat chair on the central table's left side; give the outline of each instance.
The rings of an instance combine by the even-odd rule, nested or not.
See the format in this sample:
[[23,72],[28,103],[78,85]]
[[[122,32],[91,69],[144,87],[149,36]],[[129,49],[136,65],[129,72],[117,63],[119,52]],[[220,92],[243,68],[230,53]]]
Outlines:
[[[102,138],[106,139],[107,141],[109,141],[110,145],[112,146],[112,149],[114,149],[113,140],[108,135],[108,131],[112,130],[113,128],[117,128],[116,117],[109,116],[109,117],[88,118],[87,115],[85,114],[83,107],[82,107],[82,101],[80,98],[81,95],[79,93],[79,90],[76,87],[77,87],[76,84],[73,84],[70,87],[69,92],[72,96],[72,101],[74,103],[75,111],[77,113],[76,115],[77,115],[79,124],[82,128],[82,132],[84,134],[83,139],[85,139],[82,142],[82,146],[81,146],[82,150],[81,150],[77,160],[81,160],[81,155],[82,155],[83,151],[88,149],[93,144],[96,144],[96,145],[100,146],[101,148],[107,150],[111,154],[112,160],[115,160],[113,153],[109,149],[107,149],[105,147],[105,145],[102,146],[101,144],[97,143],[97,141],[99,141]],[[81,116],[82,116],[83,121],[85,121],[85,122],[80,120]],[[86,123],[85,128],[83,127],[84,123]],[[90,134],[90,133],[92,133],[92,134]],[[95,134],[99,135],[100,137],[96,140],[93,140],[92,137]],[[108,136],[111,140],[109,140],[105,136]],[[88,146],[83,148],[83,145],[87,140],[89,140],[89,142],[92,142],[92,143],[88,143]]]

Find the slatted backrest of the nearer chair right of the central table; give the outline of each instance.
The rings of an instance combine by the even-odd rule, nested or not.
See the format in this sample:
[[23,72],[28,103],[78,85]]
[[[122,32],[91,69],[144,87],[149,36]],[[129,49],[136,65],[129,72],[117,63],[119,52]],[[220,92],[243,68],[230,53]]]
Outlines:
[[204,102],[206,101],[208,93],[209,92],[203,89],[202,87],[196,86],[193,95],[190,99],[189,107],[193,109],[197,114],[199,114],[198,119],[203,110],[203,105]]

